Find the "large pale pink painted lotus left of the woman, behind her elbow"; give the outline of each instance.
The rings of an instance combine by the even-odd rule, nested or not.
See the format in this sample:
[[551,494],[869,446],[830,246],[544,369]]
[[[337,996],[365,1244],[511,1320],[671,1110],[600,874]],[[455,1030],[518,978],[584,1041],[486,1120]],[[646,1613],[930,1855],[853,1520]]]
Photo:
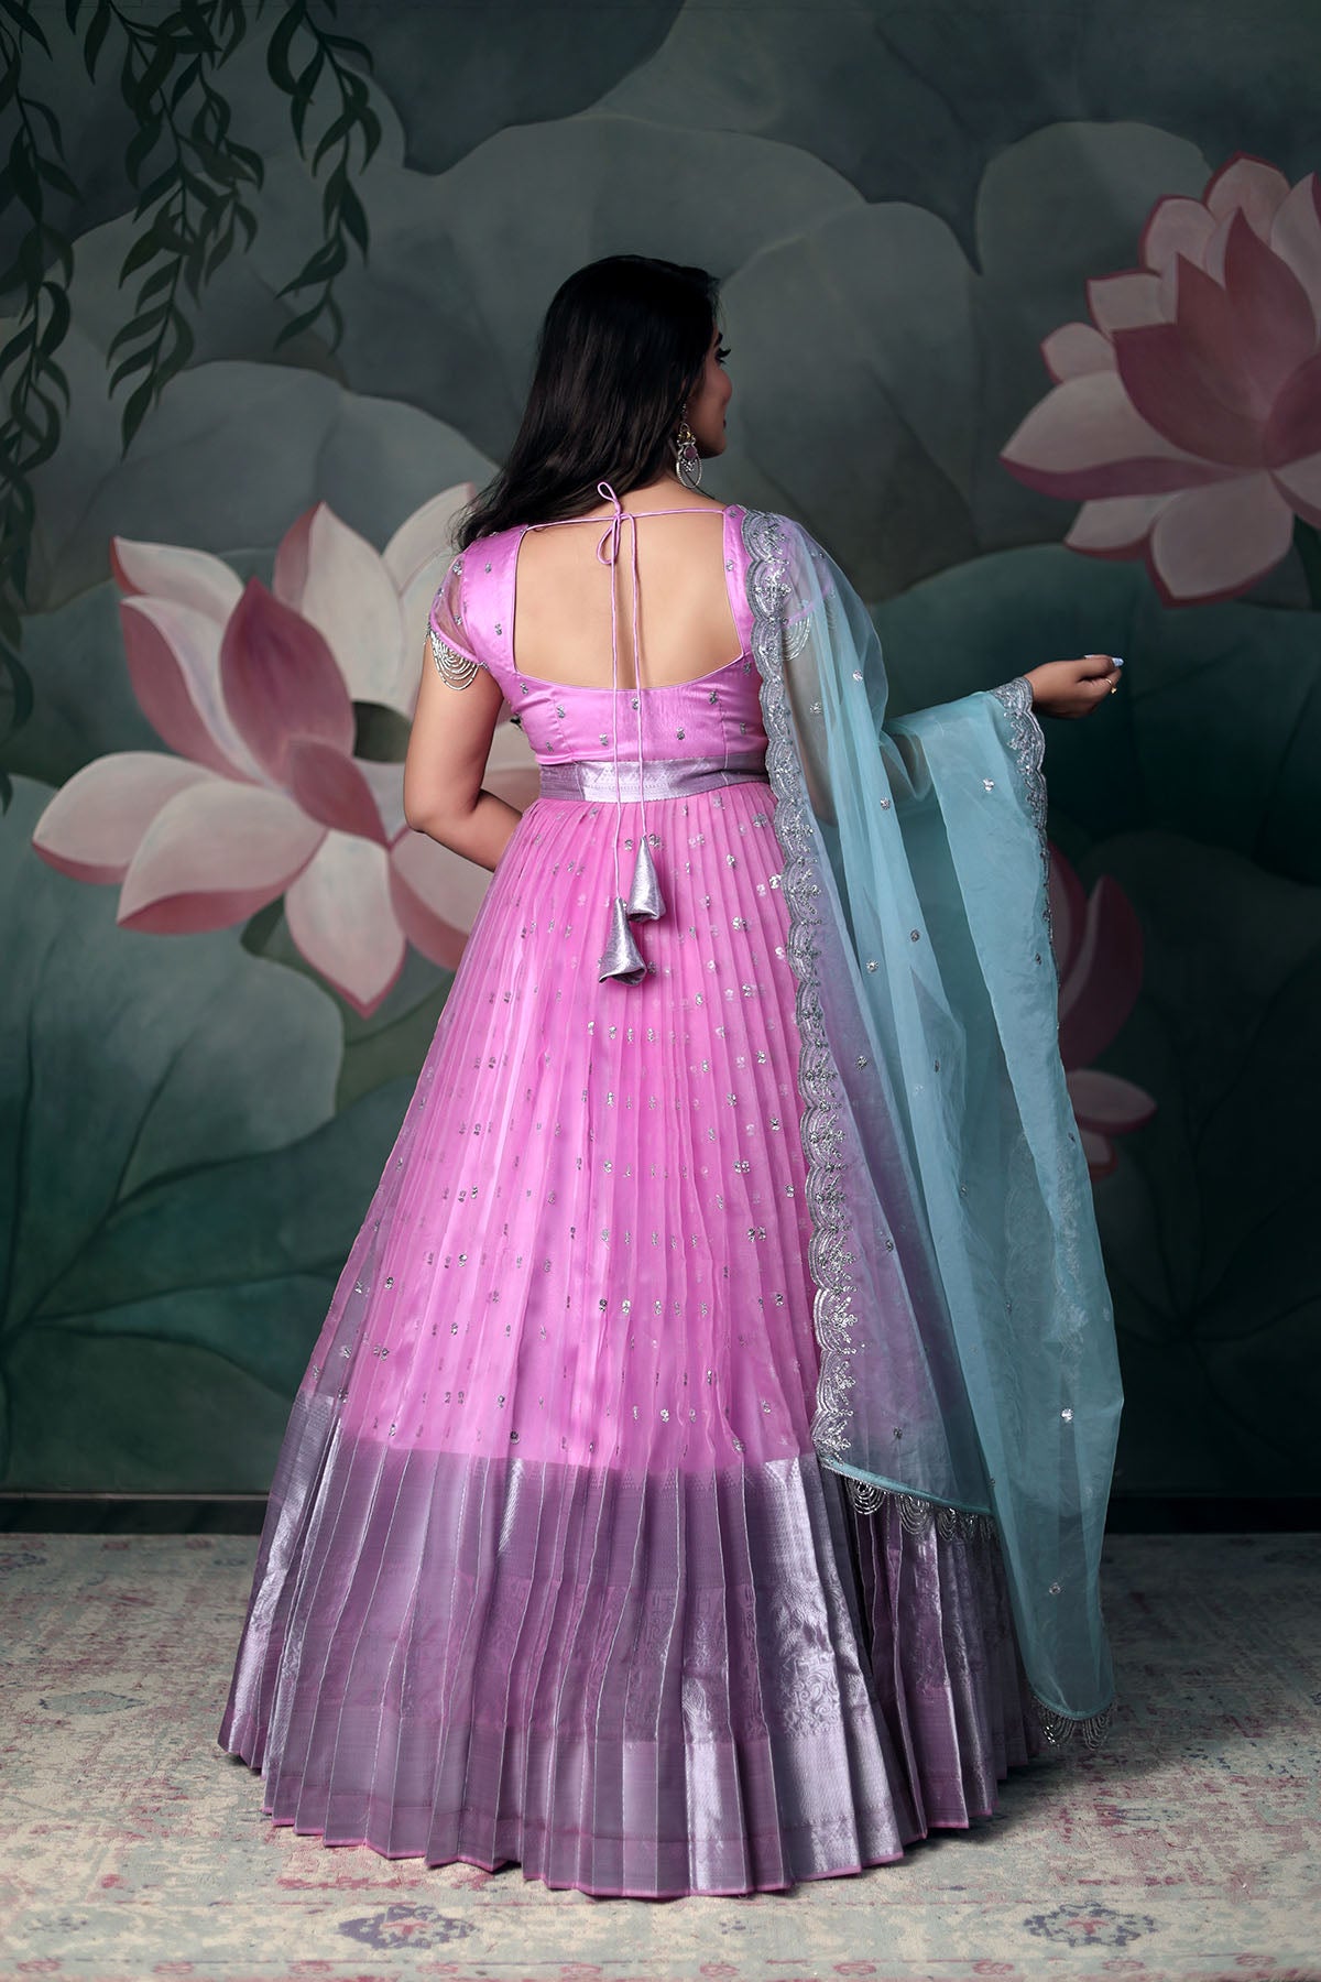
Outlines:
[[[317,503],[269,591],[206,551],[115,539],[129,676],[174,755],[77,771],[38,821],[42,858],[119,884],[119,922],[156,936],[222,930],[283,896],[297,949],[362,1015],[410,941],[454,967],[489,876],[404,825],[402,763],[355,755],[355,704],[412,714],[469,496],[436,496],[384,553]],[[535,797],[521,729],[499,725],[487,783],[519,807]]]

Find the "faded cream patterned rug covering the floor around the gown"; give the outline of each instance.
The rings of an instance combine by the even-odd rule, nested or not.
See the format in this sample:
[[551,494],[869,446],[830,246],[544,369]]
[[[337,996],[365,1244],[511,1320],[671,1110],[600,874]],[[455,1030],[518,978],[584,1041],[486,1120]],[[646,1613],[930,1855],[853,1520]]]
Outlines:
[[0,1536],[0,1976],[1321,1982],[1317,1536],[1125,1536],[1095,1756],[903,1865],[590,1901],[273,1829],[214,1746],[254,1540]]

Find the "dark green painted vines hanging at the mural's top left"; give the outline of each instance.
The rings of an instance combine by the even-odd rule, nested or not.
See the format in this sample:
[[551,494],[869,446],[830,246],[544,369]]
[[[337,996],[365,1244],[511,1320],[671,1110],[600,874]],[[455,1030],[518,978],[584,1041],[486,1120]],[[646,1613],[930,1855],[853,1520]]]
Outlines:
[[[192,311],[206,283],[238,244],[257,232],[252,194],[261,188],[259,153],[232,135],[232,111],[216,75],[244,42],[261,0],[176,0],[156,20],[135,0],[65,0],[63,20],[81,38],[87,77],[95,83],[107,57],[117,61],[119,91],[133,119],[125,170],[145,222],[119,270],[133,285],[129,321],[107,351],[111,392],[129,388],[121,434],[125,450],[170,379],[192,357]],[[321,198],[321,244],[281,291],[311,299],[281,331],[279,343],[321,327],[335,347],[343,313],[335,283],[351,248],[368,252],[368,226],[353,172],[366,168],[380,145],[370,107],[370,55],[360,42],[333,34],[335,0],[283,0],[267,44],[267,73],[289,99],[299,155],[313,178],[329,166]],[[50,16],[48,16],[50,18]],[[32,474],[61,438],[69,383],[55,353],[69,331],[73,246],[50,214],[50,200],[77,200],[63,166],[53,111],[24,87],[24,50],[50,59],[50,42],[34,0],[0,0],[0,113],[14,125],[0,163],[0,210],[20,206],[18,234],[0,289],[16,299],[16,329],[0,349],[0,741],[32,712],[32,680],[20,660],[22,610],[36,529]],[[356,65],[356,67],[355,67]],[[311,125],[329,85],[331,109],[309,157]],[[0,771],[0,807],[10,785]]]

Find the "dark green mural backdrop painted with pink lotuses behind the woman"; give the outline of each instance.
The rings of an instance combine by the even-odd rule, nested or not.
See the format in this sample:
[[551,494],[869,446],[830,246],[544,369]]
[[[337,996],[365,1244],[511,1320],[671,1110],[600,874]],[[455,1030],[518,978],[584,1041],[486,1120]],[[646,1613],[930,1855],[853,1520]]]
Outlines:
[[[1056,654],[1117,1490],[1317,1490],[1307,0],[0,0],[0,1485],[261,1490],[483,876],[426,605],[568,270],[723,281],[717,494],[897,708]],[[489,781],[535,795],[517,729]]]

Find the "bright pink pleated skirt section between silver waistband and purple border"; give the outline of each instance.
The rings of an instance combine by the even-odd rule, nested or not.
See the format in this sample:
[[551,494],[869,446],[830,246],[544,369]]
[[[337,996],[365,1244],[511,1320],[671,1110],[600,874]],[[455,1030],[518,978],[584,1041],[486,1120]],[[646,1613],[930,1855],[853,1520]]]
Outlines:
[[[596,983],[600,809],[541,801],[501,862],[463,957],[493,1001],[450,995],[355,1276],[384,1354],[349,1387],[345,1435],[640,1471],[810,1449],[770,797],[650,811],[669,914],[640,936],[660,965],[642,985]],[[331,1316],[315,1362],[335,1334]]]

